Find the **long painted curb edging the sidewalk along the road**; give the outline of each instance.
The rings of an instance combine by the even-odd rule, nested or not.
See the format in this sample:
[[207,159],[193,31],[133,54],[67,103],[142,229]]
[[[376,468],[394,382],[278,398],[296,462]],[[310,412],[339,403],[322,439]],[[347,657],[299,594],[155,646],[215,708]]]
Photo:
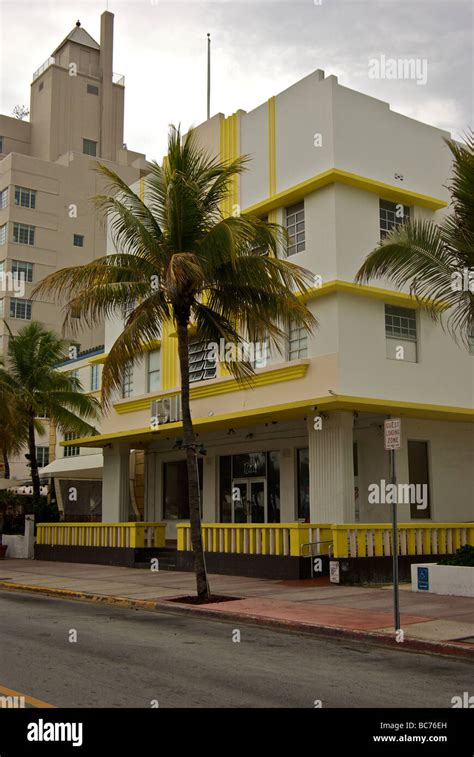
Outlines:
[[239,622],[245,625],[260,626],[273,630],[289,631],[292,633],[305,634],[318,638],[341,639],[341,641],[357,641],[371,643],[374,646],[389,647],[405,652],[418,652],[424,654],[437,654],[448,657],[460,657],[474,662],[474,645],[453,643],[446,641],[425,641],[422,639],[405,639],[403,643],[388,634],[376,631],[355,631],[347,628],[334,628],[333,626],[317,626],[293,620],[280,618],[266,618],[259,615],[248,615],[239,612],[222,612],[213,608],[196,607],[195,605],[180,604],[176,597],[167,597],[158,601],[148,599],[128,599],[127,597],[112,597],[103,594],[91,594],[73,589],[54,589],[47,586],[32,586],[30,584],[16,584],[8,581],[0,581],[0,589],[10,591],[23,591],[35,594],[45,594],[58,599],[73,599],[76,601],[93,602],[96,604],[109,604],[117,607],[139,610],[160,610],[170,614],[194,615],[201,618],[212,618],[228,622]]

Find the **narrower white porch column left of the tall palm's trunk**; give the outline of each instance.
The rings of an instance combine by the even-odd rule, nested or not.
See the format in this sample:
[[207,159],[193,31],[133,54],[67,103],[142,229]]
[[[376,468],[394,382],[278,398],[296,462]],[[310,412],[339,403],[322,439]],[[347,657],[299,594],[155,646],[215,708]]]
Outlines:
[[102,522],[123,523],[129,519],[130,448],[113,444],[104,448]]

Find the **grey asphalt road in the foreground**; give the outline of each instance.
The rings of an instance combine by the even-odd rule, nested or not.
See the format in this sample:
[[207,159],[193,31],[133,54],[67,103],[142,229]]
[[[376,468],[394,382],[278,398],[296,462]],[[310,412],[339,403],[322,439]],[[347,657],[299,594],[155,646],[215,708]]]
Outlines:
[[[461,660],[0,591],[2,687],[56,707],[451,707]],[[77,641],[70,641],[77,632]],[[155,706],[157,704],[155,702]]]

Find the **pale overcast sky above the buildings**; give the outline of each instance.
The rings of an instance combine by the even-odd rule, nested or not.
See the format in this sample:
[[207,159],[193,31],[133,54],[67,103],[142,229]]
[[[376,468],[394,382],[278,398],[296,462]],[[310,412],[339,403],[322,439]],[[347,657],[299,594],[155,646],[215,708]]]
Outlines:
[[[33,71],[77,19],[99,41],[107,0],[0,0],[0,112],[29,103]],[[114,70],[125,75],[125,141],[161,159],[167,125],[206,116],[206,33],[212,35],[211,113],[251,110],[322,68],[344,86],[460,137],[473,125],[472,0],[108,0]],[[369,61],[427,61],[426,84],[369,77]],[[420,65],[423,65],[420,63]]]

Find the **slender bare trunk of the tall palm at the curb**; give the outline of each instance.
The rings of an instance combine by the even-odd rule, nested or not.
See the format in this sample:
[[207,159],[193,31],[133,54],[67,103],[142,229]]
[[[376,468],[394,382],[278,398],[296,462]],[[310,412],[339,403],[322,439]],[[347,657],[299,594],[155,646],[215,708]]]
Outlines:
[[189,315],[177,319],[178,324],[178,355],[181,368],[181,407],[183,413],[184,447],[186,449],[186,463],[188,470],[188,499],[189,520],[191,523],[191,544],[194,554],[194,571],[198,597],[209,599],[209,583],[207,580],[206,563],[202,546],[201,509],[199,502],[199,475],[196,457],[196,437],[194,435],[191,410],[189,407],[189,344],[188,344]]

